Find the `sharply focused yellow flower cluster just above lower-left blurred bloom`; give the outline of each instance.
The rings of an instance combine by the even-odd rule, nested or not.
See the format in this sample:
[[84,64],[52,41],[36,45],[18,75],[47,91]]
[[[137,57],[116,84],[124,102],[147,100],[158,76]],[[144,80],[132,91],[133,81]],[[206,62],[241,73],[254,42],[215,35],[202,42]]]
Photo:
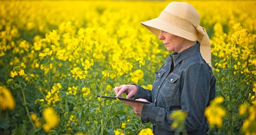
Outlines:
[[45,100],[47,101],[48,105],[53,104],[55,106],[55,103],[58,101],[61,101],[61,97],[59,97],[59,92],[61,89],[60,83],[54,83],[53,87],[51,88],[51,91],[48,91]]

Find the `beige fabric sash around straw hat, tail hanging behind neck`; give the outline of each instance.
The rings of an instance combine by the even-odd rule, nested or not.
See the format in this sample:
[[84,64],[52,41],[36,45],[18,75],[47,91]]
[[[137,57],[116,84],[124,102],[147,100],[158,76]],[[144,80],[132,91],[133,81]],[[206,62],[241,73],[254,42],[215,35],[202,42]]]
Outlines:
[[[203,28],[203,27],[199,26],[198,24],[195,24],[187,19],[181,18],[177,15],[173,15],[166,11],[162,11],[158,18],[195,34],[195,36],[198,37],[199,42],[200,42],[200,53],[201,53],[203,59],[210,66],[210,68],[213,69],[212,64],[211,64],[210,39],[205,31],[205,28]],[[183,38],[186,38],[186,35],[184,35]],[[188,38],[186,38],[186,39],[188,39]],[[188,39],[188,40],[193,41],[193,40],[197,40],[197,39]]]

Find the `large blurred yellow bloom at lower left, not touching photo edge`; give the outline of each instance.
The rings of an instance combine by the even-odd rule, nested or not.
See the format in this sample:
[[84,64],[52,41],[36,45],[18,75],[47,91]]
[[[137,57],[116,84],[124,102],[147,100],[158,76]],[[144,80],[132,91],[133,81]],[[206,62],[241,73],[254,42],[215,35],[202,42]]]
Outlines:
[[56,127],[60,122],[59,116],[57,115],[55,110],[51,107],[47,107],[46,109],[44,109],[42,115],[43,115],[44,120],[46,122],[43,125],[43,129],[46,132],[48,132],[51,129],[53,129],[54,127]]

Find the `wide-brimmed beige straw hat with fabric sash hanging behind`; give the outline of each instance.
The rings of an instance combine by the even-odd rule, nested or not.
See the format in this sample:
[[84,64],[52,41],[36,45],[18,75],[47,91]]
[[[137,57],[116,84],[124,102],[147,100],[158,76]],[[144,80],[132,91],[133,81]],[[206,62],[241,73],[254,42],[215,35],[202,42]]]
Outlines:
[[205,28],[199,26],[200,15],[197,10],[187,2],[171,2],[155,18],[141,22],[146,28],[159,36],[165,31],[182,38],[200,42],[200,53],[206,63],[212,68],[210,39]]

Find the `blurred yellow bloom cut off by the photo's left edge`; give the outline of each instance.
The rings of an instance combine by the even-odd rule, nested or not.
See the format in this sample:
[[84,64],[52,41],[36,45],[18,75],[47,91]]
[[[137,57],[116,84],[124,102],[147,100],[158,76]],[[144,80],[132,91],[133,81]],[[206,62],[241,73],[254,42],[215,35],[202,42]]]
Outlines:
[[0,86],[0,108],[1,110],[14,110],[15,100],[10,90],[4,86]]

